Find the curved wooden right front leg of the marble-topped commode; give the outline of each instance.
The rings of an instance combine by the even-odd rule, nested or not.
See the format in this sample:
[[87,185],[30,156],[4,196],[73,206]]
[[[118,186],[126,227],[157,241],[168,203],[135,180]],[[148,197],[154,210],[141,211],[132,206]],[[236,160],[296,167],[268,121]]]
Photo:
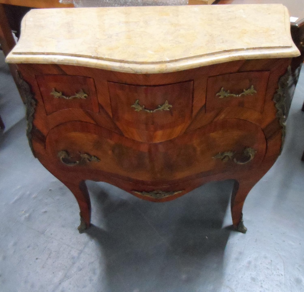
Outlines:
[[244,226],[243,222],[243,206],[246,197],[250,190],[254,187],[257,181],[245,181],[236,180],[232,190],[231,196],[231,216],[233,227],[235,230],[246,233],[247,228]]

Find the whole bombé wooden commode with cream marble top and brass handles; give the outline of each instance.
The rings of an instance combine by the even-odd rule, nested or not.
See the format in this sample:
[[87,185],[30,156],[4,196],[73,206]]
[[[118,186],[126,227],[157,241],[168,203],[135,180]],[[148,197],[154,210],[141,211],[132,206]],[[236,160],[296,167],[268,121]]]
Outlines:
[[300,54],[284,6],[41,9],[22,23],[6,60],[27,87],[29,144],[76,197],[80,231],[85,180],[164,202],[233,179],[233,226],[246,232],[243,204],[281,152]]

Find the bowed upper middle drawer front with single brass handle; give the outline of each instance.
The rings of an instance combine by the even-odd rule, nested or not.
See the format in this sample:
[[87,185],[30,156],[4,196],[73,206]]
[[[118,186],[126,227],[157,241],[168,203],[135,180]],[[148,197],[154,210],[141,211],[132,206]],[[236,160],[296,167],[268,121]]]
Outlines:
[[157,131],[191,120],[192,81],[161,86],[108,82],[108,86],[112,116],[118,125]]

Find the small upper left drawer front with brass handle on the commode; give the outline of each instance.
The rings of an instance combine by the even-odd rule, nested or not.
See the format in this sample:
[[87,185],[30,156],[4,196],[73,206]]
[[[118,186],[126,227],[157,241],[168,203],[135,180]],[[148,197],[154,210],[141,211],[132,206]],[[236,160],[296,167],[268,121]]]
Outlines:
[[62,109],[99,112],[94,79],[82,76],[36,75],[47,115]]

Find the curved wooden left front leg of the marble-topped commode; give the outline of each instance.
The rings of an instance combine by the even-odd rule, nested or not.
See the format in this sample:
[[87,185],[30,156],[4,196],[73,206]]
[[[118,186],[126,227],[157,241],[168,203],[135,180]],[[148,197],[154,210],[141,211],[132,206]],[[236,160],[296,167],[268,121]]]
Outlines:
[[61,180],[65,186],[73,193],[80,209],[79,233],[83,233],[91,224],[91,200],[88,188],[84,180],[71,183],[70,181]]

